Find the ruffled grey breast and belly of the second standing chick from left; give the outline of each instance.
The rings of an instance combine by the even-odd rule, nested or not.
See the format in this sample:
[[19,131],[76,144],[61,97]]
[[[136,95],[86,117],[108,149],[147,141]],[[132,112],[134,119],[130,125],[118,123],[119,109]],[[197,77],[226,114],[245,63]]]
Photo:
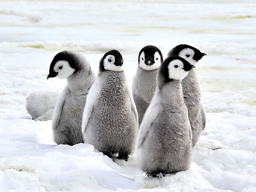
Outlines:
[[135,116],[123,82],[115,75],[105,81],[84,134],[85,142],[103,153],[131,154],[135,146]]

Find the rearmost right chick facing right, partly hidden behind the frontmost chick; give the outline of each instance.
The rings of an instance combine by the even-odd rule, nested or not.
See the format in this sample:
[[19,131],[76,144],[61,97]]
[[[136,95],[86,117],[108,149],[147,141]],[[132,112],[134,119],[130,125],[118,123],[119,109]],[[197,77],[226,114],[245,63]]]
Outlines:
[[[167,57],[179,55],[190,64],[195,65],[205,53],[189,45],[178,45],[168,53]],[[192,130],[192,146],[194,147],[206,125],[206,114],[195,71],[191,69],[188,75],[182,80],[183,97],[188,108],[188,118]]]

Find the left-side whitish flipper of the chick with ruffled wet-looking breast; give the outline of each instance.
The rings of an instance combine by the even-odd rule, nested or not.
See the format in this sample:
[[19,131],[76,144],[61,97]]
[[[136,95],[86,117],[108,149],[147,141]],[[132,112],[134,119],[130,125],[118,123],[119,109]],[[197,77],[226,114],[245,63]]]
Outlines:
[[98,86],[95,82],[90,88],[86,97],[86,103],[84,106],[83,118],[82,118],[82,133],[85,133],[86,126],[92,114],[93,106],[98,99]]

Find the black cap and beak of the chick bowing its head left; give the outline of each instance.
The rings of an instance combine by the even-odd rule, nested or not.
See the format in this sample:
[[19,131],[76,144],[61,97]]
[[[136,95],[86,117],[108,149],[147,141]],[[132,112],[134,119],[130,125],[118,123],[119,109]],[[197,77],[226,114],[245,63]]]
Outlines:
[[58,75],[57,72],[54,71],[54,65],[57,63],[57,61],[64,60],[67,61],[73,69],[76,71],[80,69],[79,61],[77,60],[76,56],[74,53],[71,51],[62,51],[59,52],[55,57],[53,58],[50,69],[49,69],[49,75],[47,76],[47,79],[50,77],[56,77]]

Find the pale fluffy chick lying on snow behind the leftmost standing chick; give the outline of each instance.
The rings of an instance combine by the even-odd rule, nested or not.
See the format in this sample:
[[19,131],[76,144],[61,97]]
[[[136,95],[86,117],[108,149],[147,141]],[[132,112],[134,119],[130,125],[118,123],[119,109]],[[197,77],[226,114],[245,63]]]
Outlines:
[[52,120],[53,110],[59,93],[55,91],[35,91],[26,98],[26,109],[35,121]]

